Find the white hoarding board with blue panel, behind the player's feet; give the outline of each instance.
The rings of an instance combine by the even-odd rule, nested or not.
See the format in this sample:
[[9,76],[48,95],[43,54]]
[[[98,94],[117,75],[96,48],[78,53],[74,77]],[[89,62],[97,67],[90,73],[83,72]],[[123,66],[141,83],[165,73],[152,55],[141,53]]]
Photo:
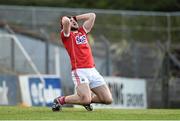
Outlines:
[[56,75],[19,76],[22,103],[28,106],[51,106],[54,98],[62,95],[61,80]]

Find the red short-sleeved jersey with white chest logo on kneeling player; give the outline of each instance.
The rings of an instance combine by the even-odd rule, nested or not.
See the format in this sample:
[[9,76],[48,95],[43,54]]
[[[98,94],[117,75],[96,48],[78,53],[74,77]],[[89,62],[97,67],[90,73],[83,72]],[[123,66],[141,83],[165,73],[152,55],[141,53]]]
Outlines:
[[72,70],[95,66],[87,34],[83,27],[80,27],[77,33],[70,32],[68,37],[65,37],[61,31],[61,39],[70,56]]

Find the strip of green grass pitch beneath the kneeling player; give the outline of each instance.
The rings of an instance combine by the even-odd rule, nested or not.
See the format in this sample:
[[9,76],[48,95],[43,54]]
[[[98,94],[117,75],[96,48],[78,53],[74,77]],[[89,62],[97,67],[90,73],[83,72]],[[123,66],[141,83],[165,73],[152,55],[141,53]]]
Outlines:
[[0,106],[0,120],[180,120],[179,109],[95,109]]

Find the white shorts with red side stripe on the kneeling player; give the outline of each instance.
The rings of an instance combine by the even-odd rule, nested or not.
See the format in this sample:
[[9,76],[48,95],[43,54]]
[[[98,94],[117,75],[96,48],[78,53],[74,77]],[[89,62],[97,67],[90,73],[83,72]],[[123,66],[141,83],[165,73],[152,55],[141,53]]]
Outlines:
[[89,87],[92,89],[106,84],[104,78],[99,74],[96,68],[78,68],[71,73],[75,86],[82,83],[88,83]]

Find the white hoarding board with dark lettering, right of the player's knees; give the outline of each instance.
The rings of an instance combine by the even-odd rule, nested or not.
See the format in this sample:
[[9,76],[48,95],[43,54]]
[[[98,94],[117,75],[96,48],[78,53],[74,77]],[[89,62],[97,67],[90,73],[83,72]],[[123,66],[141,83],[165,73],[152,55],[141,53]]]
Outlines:
[[105,77],[112,92],[111,105],[94,104],[95,108],[147,108],[146,81],[144,79]]

